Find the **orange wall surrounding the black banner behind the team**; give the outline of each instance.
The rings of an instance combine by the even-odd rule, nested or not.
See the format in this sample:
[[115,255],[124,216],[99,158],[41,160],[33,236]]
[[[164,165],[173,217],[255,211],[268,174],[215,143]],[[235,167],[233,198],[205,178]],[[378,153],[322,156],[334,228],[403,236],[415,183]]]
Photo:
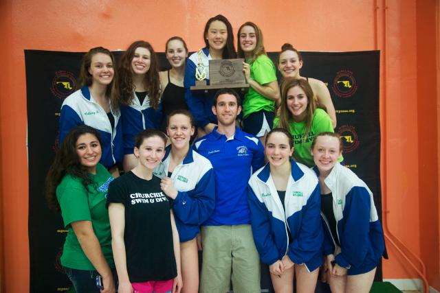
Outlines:
[[[259,24],[268,51],[277,51],[285,42],[304,51],[382,51],[382,192],[387,223],[426,262],[428,279],[439,289],[436,9],[435,0],[0,1],[0,42],[6,57],[0,71],[5,292],[29,288],[23,49],[124,49],[133,40],[146,39],[163,51],[167,38],[180,35],[194,51],[203,45],[204,23],[219,13],[235,30],[244,21]],[[388,252],[384,278],[417,278],[389,244]]]

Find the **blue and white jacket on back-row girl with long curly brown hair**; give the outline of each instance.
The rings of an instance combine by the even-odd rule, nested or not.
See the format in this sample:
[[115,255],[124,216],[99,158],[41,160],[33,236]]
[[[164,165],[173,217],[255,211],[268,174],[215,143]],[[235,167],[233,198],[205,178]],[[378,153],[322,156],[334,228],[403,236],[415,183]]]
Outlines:
[[157,110],[150,106],[150,98],[146,95],[142,105],[133,91],[133,100],[129,106],[121,106],[122,132],[124,133],[124,154],[133,154],[135,136],[144,129],[159,129],[162,120],[162,103]]

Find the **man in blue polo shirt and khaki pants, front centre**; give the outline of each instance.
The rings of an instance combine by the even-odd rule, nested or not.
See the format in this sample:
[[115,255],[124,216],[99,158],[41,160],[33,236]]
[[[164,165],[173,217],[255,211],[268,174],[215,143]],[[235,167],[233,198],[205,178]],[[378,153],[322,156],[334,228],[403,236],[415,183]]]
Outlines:
[[264,164],[260,140],[235,126],[240,97],[232,89],[214,96],[212,112],[219,124],[195,143],[214,167],[214,213],[201,227],[203,266],[200,292],[261,292],[260,261],[252,237],[246,198],[248,180]]

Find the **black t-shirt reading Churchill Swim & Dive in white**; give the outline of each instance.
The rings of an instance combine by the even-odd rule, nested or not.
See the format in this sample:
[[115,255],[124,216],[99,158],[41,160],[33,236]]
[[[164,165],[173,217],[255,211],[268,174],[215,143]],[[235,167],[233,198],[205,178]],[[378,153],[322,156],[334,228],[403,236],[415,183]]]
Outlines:
[[107,204],[125,207],[126,268],[131,283],[166,281],[177,276],[170,220],[170,201],[160,189],[160,179],[128,172],[109,186]]

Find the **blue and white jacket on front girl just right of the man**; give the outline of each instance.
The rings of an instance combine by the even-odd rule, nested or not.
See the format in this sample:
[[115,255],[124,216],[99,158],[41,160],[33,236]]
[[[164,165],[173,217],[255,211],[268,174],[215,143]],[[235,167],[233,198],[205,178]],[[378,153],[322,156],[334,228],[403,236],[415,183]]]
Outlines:
[[[267,163],[249,180],[248,202],[252,233],[261,261],[271,265],[287,254],[309,272],[322,264],[321,198],[318,178],[293,159],[287,183],[285,210]],[[289,242],[288,233],[292,236]]]

